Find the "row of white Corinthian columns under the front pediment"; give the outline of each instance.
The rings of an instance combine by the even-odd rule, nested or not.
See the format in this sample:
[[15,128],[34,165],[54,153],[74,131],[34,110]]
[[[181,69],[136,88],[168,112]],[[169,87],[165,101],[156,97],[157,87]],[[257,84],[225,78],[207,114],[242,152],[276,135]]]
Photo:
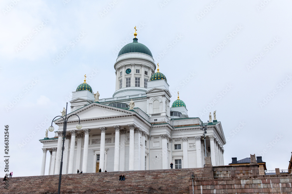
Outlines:
[[[141,130],[134,124],[129,124],[128,128],[130,129],[129,134],[129,170],[145,170],[145,140],[148,138],[148,135],[145,131]],[[121,126],[114,126],[115,130],[115,142],[114,142],[114,171],[124,171],[125,164],[125,134],[126,130],[121,129]],[[83,159],[82,159],[82,170],[83,173],[87,172],[88,164],[88,145],[89,145],[89,132],[91,129],[83,129],[84,132],[84,149],[83,149]],[[99,168],[103,170],[105,166],[105,132],[107,127],[100,127],[100,160]],[[70,135],[65,137],[65,146],[64,146],[64,157],[63,157],[63,168],[65,171],[67,169],[67,157],[69,150],[69,139],[71,138],[70,144],[70,154],[69,154],[69,164],[68,164],[68,174],[73,174],[74,172],[74,154],[75,154],[75,139],[77,135],[77,158],[80,159],[81,156],[81,138],[82,134],[77,134],[77,130],[71,130]],[[121,133],[121,142],[120,142],[120,133]],[[43,159],[41,165],[41,175],[45,173],[46,166],[46,152],[50,152],[50,164],[49,164],[49,175],[57,175],[60,173],[60,162],[62,154],[62,131],[58,131],[58,144],[57,147],[53,148],[43,148]],[[66,141],[67,140],[67,141]],[[142,148],[140,147],[142,144]],[[67,150],[67,153],[65,153]],[[121,153],[121,154],[120,154]],[[66,157],[67,156],[67,157]],[[80,160],[76,161],[76,166],[80,166]],[[76,167],[77,168],[77,167]],[[79,168],[79,167],[78,167]],[[65,174],[64,171],[62,174]]]

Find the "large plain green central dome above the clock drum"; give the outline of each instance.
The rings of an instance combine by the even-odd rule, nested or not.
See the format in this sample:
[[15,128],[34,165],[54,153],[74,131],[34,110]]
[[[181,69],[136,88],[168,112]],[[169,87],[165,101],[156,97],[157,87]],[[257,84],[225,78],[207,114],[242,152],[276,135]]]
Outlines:
[[126,53],[144,53],[152,57],[151,51],[143,44],[138,42],[138,38],[133,38],[133,42],[125,45],[118,56]]

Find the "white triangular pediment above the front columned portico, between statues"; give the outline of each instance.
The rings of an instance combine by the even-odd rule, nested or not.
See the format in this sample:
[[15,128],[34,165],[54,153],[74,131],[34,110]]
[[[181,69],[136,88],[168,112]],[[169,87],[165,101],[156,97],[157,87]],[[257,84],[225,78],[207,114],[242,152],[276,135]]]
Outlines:
[[[78,110],[72,113],[69,113],[67,117],[69,117],[72,114],[77,114],[80,120],[84,120],[84,119],[92,119],[92,118],[104,118],[104,117],[112,117],[112,116],[119,116],[119,115],[128,115],[128,114],[133,114],[133,113],[135,112],[93,102],[82,108],[79,108]],[[78,118],[77,116],[73,115],[72,117],[69,118],[69,121],[71,120],[78,120]],[[60,121],[62,121],[62,119],[56,120],[56,122],[60,122]]]

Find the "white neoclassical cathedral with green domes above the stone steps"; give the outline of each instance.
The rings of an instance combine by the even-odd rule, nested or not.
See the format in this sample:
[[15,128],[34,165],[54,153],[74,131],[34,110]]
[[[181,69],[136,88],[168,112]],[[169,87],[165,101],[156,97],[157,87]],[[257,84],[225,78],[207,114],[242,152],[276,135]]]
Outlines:
[[[221,122],[214,118],[203,123],[189,117],[179,97],[171,104],[166,77],[158,68],[155,72],[151,51],[134,35],[114,63],[116,91],[111,98],[98,99],[86,80],[72,92],[67,118],[78,115],[82,128],[76,128],[79,119],[72,115],[65,134],[62,174],[77,173],[77,169],[83,173],[100,168],[102,172],[170,169],[170,163],[173,168],[201,168],[206,155],[213,166],[224,165]],[[43,143],[41,175],[46,166],[48,175],[60,172],[63,119],[54,123],[59,127],[55,137],[39,140]],[[206,138],[201,125],[207,127]]]

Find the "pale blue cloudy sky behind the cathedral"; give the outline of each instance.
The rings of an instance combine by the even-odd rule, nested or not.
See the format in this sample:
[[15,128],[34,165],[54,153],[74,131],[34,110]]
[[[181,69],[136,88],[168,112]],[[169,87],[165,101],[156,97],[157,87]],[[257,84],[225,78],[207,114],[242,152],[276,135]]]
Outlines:
[[[84,74],[100,99],[112,97],[113,65],[135,26],[167,78],[171,103],[179,91],[189,117],[203,122],[216,110],[225,165],[256,154],[268,170],[288,169],[291,6],[284,0],[2,0],[0,176],[4,156],[14,176],[40,175],[39,140]],[[49,154],[45,175],[48,161]]]

